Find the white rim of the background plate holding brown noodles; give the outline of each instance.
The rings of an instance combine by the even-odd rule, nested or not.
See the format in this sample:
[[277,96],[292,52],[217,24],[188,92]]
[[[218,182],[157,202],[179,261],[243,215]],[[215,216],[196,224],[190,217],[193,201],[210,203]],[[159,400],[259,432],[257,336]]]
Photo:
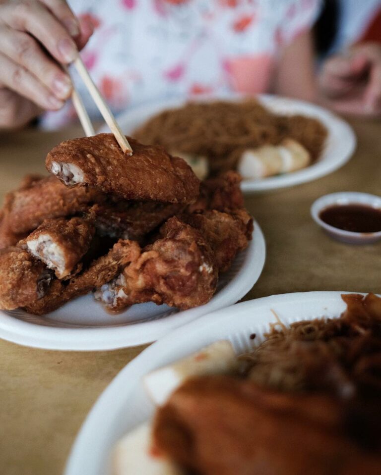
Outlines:
[[[318,160],[312,165],[297,170],[290,173],[285,173],[278,176],[270,176],[262,178],[261,180],[243,180],[241,183],[241,189],[245,194],[255,194],[255,193],[264,193],[268,191],[281,190],[283,188],[288,188],[291,186],[300,185],[302,183],[308,183],[318,178],[326,176],[338,168],[341,168],[345,163],[347,163],[352,155],[354,154],[357,147],[357,137],[351,127],[351,125],[342,117],[332,112],[331,110],[319,106],[317,104],[309,103],[307,101],[302,101],[299,99],[287,98],[284,96],[277,96],[274,94],[258,94],[254,96],[265,106],[275,107],[279,104],[290,105],[291,107],[296,106],[306,112],[307,115],[314,116],[314,112],[317,115],[323,115],[322,121],[328,129],[328,134],[334,138],[337,137],[340,139],[340,147],[342,149],[341,155],[337,157],[337,153],[333,151],[332,158]],[[249,96],[250,98],[250,96]],[[179,107],[185,104],[188,101],[213,101],[213,100],[227,100],[227,101],[238,101],[248,99],[248,96],[239,94],[239,93],[220,93],[215,96],[199,96],[196,98],[184,98],[179,96],[172,96],[164,99],[156,99],[153,101],[145,101],[142,104],[137,106],[131,106],[127,108],[124,112],[121,112],[117,119],[121,123],[123,128],[123,123],[126,120],[126,117],[130,117],[133,114],[139,114],[140,111],[144,111],[147,108],[159,108],[159,110],[164,110],[166,108]],[[308,110],[305,110],[305,109]],[[298,113],[298,111],[292,112]],[[311,114],[310,114],[311,113]],[[327,123],[326,123],[326,122]],[[328,126],[328,124],[330,126]],[[335,125],[332,132],[331,126]],[[107,125],[101,126],[97,133],[109,132]]]

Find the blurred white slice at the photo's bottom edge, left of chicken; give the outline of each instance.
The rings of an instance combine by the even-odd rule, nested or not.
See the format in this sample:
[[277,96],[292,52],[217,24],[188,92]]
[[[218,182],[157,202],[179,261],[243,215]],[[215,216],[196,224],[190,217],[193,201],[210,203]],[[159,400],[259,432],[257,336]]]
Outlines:
[[149,422],[139,425],[116,445],[113,475],[183,475],[184,472],[164,455],[151,447],[152,427]]

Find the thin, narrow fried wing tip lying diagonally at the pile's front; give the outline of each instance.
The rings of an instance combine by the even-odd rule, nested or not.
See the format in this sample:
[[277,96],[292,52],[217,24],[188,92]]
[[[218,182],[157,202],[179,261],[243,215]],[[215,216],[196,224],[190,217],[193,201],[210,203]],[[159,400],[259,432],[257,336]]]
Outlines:
[[108,254],[94,261],[87,269],[69,281],[55,279],[45,296],[27,305],[25,310],[35,315],[53,312],[69,300],[85,295],[110,282],[139,255],[140,247],[136,242],[120,240]]

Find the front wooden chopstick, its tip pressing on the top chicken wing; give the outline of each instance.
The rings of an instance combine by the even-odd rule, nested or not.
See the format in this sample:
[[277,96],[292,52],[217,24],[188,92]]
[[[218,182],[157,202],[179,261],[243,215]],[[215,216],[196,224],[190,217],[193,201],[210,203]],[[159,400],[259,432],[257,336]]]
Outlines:
[[106,104],[97,86],[94,84],[93,80],[91,79],[90,74],[88,70],[86,69],[86,66],[83,64],[83,61],[81,57],[79,56],[79,54],[77,58],[73,61],[73,65],[75,69],[77,70],[78,74],[80,75],[85,86],[87,87],[91,97],[93,98],[95,104],[97,105],[107,125],[110,127],[111,132],[115,135],[115,138],[118,144],[121,146],[121,149],[123,150],[125,154],[132,155],[132,149],[126,139],[126,136],[123,134],[109,106]]

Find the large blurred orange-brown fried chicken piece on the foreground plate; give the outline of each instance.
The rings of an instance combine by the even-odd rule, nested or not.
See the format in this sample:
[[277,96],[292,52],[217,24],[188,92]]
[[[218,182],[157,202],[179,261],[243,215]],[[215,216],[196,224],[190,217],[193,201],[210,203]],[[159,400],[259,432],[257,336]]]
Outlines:
[[153,444],[202,475],[379,475],[380,453],[346,435],[346,419],[341,402],[329,396],[199,377],[159,408]]

